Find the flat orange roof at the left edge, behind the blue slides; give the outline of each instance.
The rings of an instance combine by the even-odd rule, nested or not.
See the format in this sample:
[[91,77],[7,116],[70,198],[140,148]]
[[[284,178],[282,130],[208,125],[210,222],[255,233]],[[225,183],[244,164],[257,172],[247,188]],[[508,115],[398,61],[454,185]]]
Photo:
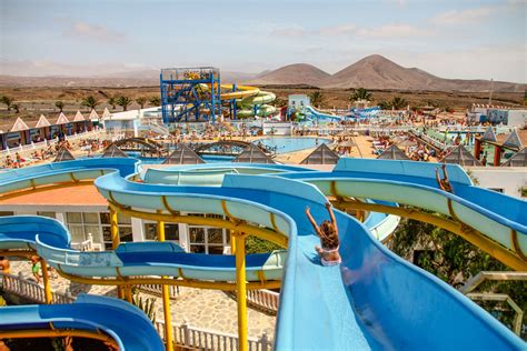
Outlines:
[[30,192],[10,199],[0,199],[0,205],[108,205],[93,184]]

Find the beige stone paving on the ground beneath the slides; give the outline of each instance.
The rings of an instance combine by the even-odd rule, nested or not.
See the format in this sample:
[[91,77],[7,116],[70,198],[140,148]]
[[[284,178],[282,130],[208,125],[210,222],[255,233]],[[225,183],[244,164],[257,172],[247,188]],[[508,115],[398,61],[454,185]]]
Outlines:
[[[22,272],[23,278],[33,279],[29,261],[11,262],[11,274]],[[70,293],[76,297],[79,293],[91,293],[99,295],[117,297],[117,288],[87,285],[71,282],[61,277],[51,280],[51,288],[56,292]],[[156,299],[157,321],[163,321],[162,301],[156,295],[141,293],[143,298]],[[172,323],[181,324],[187,321],[192,327],[238,333],[237,304],[222,291],[205,290],[193,288],[179,288],[179,295],[170,301],[172,311]],[[259,338],[264,332],[272,338],[275,334],[274,315],[267,315],[257,310],[248,308],[248,334]]]

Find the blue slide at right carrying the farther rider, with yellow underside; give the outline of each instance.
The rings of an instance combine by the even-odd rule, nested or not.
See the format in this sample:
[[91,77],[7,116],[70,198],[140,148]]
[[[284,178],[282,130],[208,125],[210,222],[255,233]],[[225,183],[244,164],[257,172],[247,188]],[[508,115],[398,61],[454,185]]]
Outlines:
[[[454,187],[450,194],[437,189],[437,163],[394,160],[341,159],[332,172],[284,174],[316,184],[337,198],[368,198],[407,204],[451,217],[465,239],[516,270],[527,270],[527,202],[474,187],[458,166],[447,164]],[[354,205],[351,204],[351,208]],[[355,208],[374,207],[355,204]],[[397,209],[379,210],[400,213]],[[446,222],[447,229],[450,223]]]

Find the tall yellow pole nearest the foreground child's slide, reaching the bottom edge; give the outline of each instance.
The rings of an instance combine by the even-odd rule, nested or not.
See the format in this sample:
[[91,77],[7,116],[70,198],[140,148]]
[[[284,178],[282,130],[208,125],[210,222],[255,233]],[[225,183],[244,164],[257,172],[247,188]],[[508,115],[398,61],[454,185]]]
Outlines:
[[246,287],[246,237],[237,232],[236,242],[236,291],[238,302],[238,350],[247,351],[247,287]]

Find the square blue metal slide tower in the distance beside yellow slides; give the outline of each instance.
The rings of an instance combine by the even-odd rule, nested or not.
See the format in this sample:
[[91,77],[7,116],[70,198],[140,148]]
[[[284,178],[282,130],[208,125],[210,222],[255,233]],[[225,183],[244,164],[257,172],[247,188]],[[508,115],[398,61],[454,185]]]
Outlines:
[[213,67],[161,69],[163,124],[216,121],[221,113],[220,71]]

